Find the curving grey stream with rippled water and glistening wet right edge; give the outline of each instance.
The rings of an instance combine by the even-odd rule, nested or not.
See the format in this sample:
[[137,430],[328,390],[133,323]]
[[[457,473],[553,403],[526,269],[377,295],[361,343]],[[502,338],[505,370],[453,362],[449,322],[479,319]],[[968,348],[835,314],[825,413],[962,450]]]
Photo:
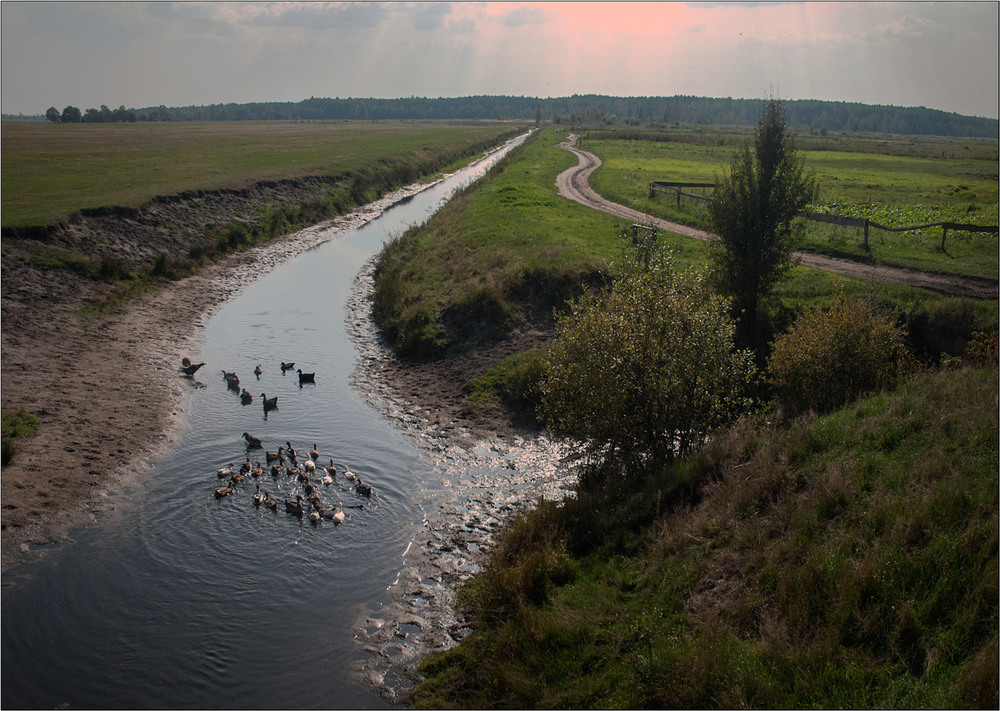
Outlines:
[[[385,384],[359,379],[359,364],[390,357],[366,314],[365,275],[387,238],[513,145],[361,227],[317,232],[205,321],[191,356],[207,365],[167,452],[97,525],[4,573],[4,708],[384,708],[419,654],[461,637],[454,583],[475,572],[505,513],[558,495],[569,475],[543,440],[446,445]],[[315,384],[300,386],[283,361]],[[266,416],[261,393],[278,398]],[[217,499],[217,469],[263,460],[243,432],[267,450],[291,443],[300,461],[314,444],[319,464],[332,458],[341,473],[319,493],[344,522],[286,513],[302,482],[269,471]],[[257,485],[278,511],[253,505]]]

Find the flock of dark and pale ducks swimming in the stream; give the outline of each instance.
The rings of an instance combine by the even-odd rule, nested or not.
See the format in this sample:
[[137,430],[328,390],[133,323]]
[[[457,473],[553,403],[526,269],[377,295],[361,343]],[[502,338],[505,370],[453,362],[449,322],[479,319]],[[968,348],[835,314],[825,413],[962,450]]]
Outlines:
[[[181,362],[181,372],[190,377],[204,365],[204,363],[192,363],[189,358],[184,358]],[[282,374],[293,369],[295,369],[295,363],[281,364]],[[230,390],[240,393],[242,404],[246,405],[252,402],[253,397],[246,388],[243,388],[242,392],[240,392],[239,378],[236,373],[225,370],[222,373],[226,380],[226,386]],[[262,373],[263,369],[258,365],[254,369],[254,375],[257,376],[258,380]],[[305,383],[316,382],[315,373],[303,373],[301,369],[297,370],[297,373],[300,387]],[[268,412],[278,409],[278,398],[277,396],[268,398],[264,393],[261,393],[260,397],[263,401],[264,416],[266,418]],[[264,442],[260,437],[255,437],[249,432],[244,432],[241,438],[246,444],[246,461],[239,467],[231,463],[229,466],[222,467],[216,471],[218,478],[225,480],[222,486],[215,489],[216,499],[223,499],[235,494],[249,480],[256,487],[256,491],[251,496],[254,507],[260,508],[264,506],[275,512],[279,508],[284,508],[285,512],[299,518],[308,516],[312,523],[319,523],[321,520],[327,519],[333,521],[334,524],[340,524],[343,523],[345,518],[343,508],[363,508],[363,504],[341,507],[336,504],[327,504],[323,501],[320,491],[326,490],[334,483],[338,475],[338,470],[332,458],[330,458],[330,464],[327,466],[318,464],[320,452],[316,444],[313,444],[313,448],[300,458],[290,441],[286,440],[285,446],[278,447],[277,450],[268,451],[264,449]],[[264,461],[260,459],[251,461],[251,453],[253,452],[262,452]],[[279,504],[278,500],[271,495],[268,489],[265,488],[261,491],[261,482],[266,481],[265,476],[267,474],[270,474],[277,486],[281,486],[281,480],[290,479],[293,486],[292,493],[294,493],[295,498],[282,497],[283,501]],[[341,478],[353,486],[355,493],[359,497],[371,499],[375,495],[374,489],[362,482],[361,478],[346,465],[344,466]],[[301,493],[297,489],[299,485],[301,485]]]

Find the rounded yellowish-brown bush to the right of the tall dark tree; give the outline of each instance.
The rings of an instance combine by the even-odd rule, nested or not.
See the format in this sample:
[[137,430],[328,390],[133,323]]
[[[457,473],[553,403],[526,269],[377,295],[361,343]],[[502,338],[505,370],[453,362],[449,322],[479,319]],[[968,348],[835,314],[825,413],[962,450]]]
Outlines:
[[800,316],[775,339],[767,378],[790,412],[828,412],[893,385],[906,361],[905,332],[865,301],[837,298]]

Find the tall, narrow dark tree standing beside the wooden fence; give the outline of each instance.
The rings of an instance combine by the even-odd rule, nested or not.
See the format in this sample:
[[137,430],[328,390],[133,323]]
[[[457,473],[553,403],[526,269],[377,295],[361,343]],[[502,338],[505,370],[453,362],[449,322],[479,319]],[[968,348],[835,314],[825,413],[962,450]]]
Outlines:
[[796,158],[777,99],[769,99],[754,134],[729,173],[715,181],[709,215],[719,242],[712,263],[719,288],[733,297],[741,340],[752,343],[761,299],[791,265],[792,220],[810,201],[815,180]]

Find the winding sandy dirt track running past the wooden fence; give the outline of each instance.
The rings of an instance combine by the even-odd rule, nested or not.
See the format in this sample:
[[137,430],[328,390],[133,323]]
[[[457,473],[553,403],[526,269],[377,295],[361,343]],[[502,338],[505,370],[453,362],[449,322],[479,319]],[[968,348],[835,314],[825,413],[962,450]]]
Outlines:
[[[570,134],[566,141],[559,144],[560,148],[565,148],[579,159],[577,165],[564,170],[556,176],[556,188],[560,195],[587,207],[592,207],[595,210],[601,210],[626,220],[631,220],[635,224],[651,225],[661,230],[685,237],[694,237],[695,239],[716,239],[716,236],[711,232],[705,232],[704,230],[698,230],[676,222],[668,222],[667,220],[647,215],[631,207],[611,202],[598,195],[590,187],[588,180],[590,179],[590,174],[601,165],[601,159],[593,153],[577,148],[577,138],[575,134]],[[837,274],[844,274],[859,279],[870,279],[889,284],[915,286],[949,296],[966,296],[973,299],[996,299],[998,297],[997,282],[987,279],[963,277],[954,274],[939,274],[937,272],[921,272],[914,269],[889,267],[880,264],[865,264],[864,262],[827,257],[813,252],[793,252],[792,259],[803,266],[823,269],[828,272],[836,272]]]

